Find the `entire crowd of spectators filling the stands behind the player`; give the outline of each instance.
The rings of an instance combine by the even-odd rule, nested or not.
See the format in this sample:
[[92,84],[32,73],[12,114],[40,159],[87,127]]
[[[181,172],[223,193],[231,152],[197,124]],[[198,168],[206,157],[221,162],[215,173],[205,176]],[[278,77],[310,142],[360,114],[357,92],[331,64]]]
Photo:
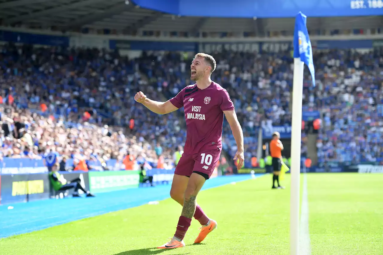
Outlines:
[[[157,115],[135,103],[133,95],[141,90],[160,101],[175,96],[191,84],[192,56],[154,52],[129,59],[118,51],[12,44],[0,49],[2,157],[39,157],[54,147],[67,157],[102,160],[121,160],[130,153],[156,162],[162,155],[171,166],[172,153],[185,141],[182,110]],[[381,160],[380,53],[316,52],[316,87],[307,74],[303,105],[322,113],[319,162]],[[260,128],[291,125],[291,52],[213,55],[212,79],[231,95],[249,162]],[[237,148],[226,122],[223,141],[231,156]]]

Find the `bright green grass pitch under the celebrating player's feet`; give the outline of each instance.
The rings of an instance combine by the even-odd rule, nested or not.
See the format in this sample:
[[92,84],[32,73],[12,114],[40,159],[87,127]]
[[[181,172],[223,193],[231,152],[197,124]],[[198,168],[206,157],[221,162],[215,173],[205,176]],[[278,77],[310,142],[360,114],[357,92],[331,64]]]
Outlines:
[[[303,176],[302,176],[303,177]],[[271,176],[202,191],[198,203],[218,229],[185,248],[157,250],[175,232],[181,206],[170,199],[0,240],[1,255],[288,255],[290,176]],[[301,178],[303,179],[303,178]],[[383,174],[308,174],[313,255],[383,255]],[[1,231],[1,230],[0,230]]]

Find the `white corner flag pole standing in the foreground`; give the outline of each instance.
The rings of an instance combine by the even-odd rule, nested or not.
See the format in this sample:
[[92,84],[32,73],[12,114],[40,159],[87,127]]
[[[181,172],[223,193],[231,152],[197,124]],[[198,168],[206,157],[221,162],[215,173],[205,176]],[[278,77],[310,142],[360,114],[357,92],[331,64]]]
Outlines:
[[291,111],[290,255],[299,255],[303,67],[304,63],[301,59],[299,57],[294,58],[293,107]]

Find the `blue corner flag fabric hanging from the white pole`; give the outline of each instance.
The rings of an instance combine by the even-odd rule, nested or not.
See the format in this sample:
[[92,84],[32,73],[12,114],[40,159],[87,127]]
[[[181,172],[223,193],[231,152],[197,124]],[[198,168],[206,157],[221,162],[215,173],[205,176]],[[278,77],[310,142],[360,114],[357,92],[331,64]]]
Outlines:
[[301,12],[299,12],[295,17],[293,56],[294,58],[299,57],[301,61],[308,66],[311,78],[313,79],[313,86],[315,86],[313,50],[311,49],[309,33],[306,27],[306,19],[306,15]]

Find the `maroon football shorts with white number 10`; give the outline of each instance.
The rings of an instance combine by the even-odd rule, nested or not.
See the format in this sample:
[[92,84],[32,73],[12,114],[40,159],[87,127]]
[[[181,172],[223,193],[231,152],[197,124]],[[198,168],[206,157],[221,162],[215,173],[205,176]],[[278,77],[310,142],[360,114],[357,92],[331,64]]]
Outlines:
[[198,173],[208,180],[216,167],[221,150],[206,150],[198,154],[183,153],[174,174],[190,177],[191,173]]

